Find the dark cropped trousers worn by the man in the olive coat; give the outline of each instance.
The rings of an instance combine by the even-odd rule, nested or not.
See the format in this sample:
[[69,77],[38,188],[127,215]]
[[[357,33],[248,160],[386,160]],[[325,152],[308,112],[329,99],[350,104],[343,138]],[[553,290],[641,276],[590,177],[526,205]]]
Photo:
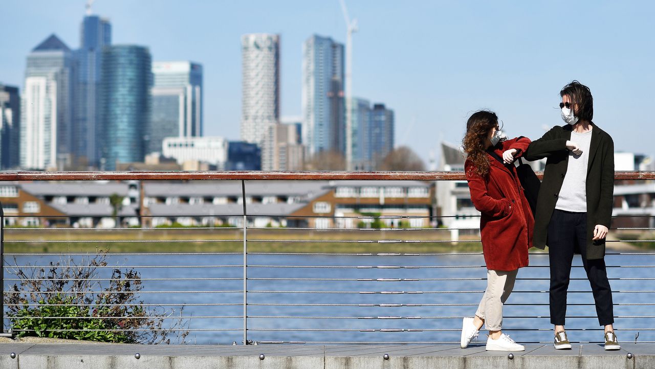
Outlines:
[[576,250],[582,255],[582,264],[596,303],[598,323],[614,323],[612,289],[607,279],[605,260],[587,260],[587,213],[553,211],[548,224],[548,258],[550,259],[550,323],[564,325],[567,315],[567,290],[571,279],[571,262]]

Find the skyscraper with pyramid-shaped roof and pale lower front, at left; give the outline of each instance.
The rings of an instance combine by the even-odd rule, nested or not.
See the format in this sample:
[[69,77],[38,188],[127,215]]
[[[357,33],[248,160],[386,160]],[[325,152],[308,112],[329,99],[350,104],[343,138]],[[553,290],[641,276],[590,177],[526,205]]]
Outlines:
[[28,55],[20,114],[21,167],[70,164],[73,72],[71,50],[56,35]]

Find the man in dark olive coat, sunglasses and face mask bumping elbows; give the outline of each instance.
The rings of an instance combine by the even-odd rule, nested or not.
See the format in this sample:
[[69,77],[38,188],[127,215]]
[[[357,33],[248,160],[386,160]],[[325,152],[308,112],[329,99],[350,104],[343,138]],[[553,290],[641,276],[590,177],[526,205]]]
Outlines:
[[574,80],[561,92],[564,126],[555,126],[531,143],[527,160],[546,158],[544,180],[534,214],[533,244],[548,245],[550,321],[555,349],[571,349],[564,329],[567,290],[574,253],[582,255],[598,321],[605,326],[605,349],[620,349],[614,334],[612,289],[605,269],[605,237],[612,220],[614,142],[593,124],[593,97]]

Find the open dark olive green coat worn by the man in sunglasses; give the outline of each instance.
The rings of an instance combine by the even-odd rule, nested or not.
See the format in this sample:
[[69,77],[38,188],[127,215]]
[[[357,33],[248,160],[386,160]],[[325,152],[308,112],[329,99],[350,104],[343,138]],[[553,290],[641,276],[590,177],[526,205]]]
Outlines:
[[[614,141],[605,131],[591,123],[591,144],[587,168],[587,259],[605,257],[605,239],[593,241],[597,224],[610,228],[614,199]],[[533,245],[545,249],[548,245],[548,223],[553,215],[559,190],[569,165],[566,142],[571,139],[572,126],[555,126],[543,137],[532,141],[523,157],[526,160],[546,158],[544,180],[539,190],[534,214]]]

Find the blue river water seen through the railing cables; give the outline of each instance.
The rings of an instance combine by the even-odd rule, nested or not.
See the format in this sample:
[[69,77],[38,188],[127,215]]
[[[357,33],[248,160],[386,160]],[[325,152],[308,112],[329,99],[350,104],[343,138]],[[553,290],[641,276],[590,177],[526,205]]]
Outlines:
[[[45,265],[59,256],[20,256],[19,265]],[[628,266],[655,266],[655,253],[646,255],[607,255],[608,276],[614,291],[615,328],[620,342],[655,341],[654,269]],[[242,255],[113,255],[109,265],[125,266],[196,266],[196,268],[137,268],[141,277],[148,278],[238,278],[214,281],[143,281],[144,291],[240,291],[243,287],[242,268],[197,268],[197,266],[240,266]],[[13,260],[7,260],[13,264]],[[437,256],[317,256],[317,255],[248,255],[248,339],[255,341],[302,342],[455,342],[459,340],[462,316],[472,317],[482,296],[486,270],[481,255]],[[514,293],[504,308],[503,327],[517,342],[550,342],[552,326],[548,309],[548,255],[531,255],[531,266],[519,270]],[[569,287],[567,330],[574,342],[600,342],[603,332],[595,318],[589,283],[584,279],[580,256],[574,259]],[[274,268],[272,266],[327,266],[332,268]],[[456,268],[333,268],[356,266],[456,266]],[[614,266],[622,266],[616,267]],[[109,272],[104,270],[103,272]],[[102,277],[103,273],[100,273]],[[12,277],[5,273],[5,278]],[[260,279],[261,278],[261,279]],[[335,279],[329,281],[280,280]],[[343,279],[434,279],[429,281],[347,281]],[[458,280],[438,280],[443,278]],[[650,279],[644,279],[650,278]],[[5,285],[9,285],[6,281]],[[363,292],[363,291],[422,291],[416,294],[361,293],[271,293],[265,291]],[[452,293],[426,293],[454,291]],[[468,291],[468,292],[461,292]],[[538,291],[538,292],[526,292]],[[582,291],[582,292],[571,292]],[[192,330],[187,342],[198,344],[240,343],[243,333],[212,331],[212,329],[242,329],[239,318],[196,318],[207,316],[240,316],[243,313],[241,292],[145,293],[140,300],[147,304],[238,304],[236,306],[186,306]],[[318,306],[259,306],[257,304],[319,304]],[[471,304],[470,306],[320,306],[320,304]],[[578,305],[572,305],[578,304]],[[580,305],[582,304],[582,305]],[[179,307],[166,308],[178,309]],[[422,317],[422,319],[337,319],[337,317]],[[528,318],[525,318],[525,317]],[[637,316],[649,316],[638,318]],[[272,317],[272,318],[271,318]],[[291,317],[291,318],[281,318]],[[330,317],[303,319],[300,317]],[[434,319],[436,317],[453,317]],[[423,332],[343,332],[360,329],[422,329]],[[541,331],[527,331],[538,328]],[[634,330],[634,328],[640,328]],[[650,329],[650,330],[645,330]],[[193,331],[198,329],[198,331]],[[207,331],[203,331],[210,329]],[[324,331],[312,331],[319,329]],[[627,330],[626,330],[627,329]],[[481,334],[481,341],[486,340]]]

